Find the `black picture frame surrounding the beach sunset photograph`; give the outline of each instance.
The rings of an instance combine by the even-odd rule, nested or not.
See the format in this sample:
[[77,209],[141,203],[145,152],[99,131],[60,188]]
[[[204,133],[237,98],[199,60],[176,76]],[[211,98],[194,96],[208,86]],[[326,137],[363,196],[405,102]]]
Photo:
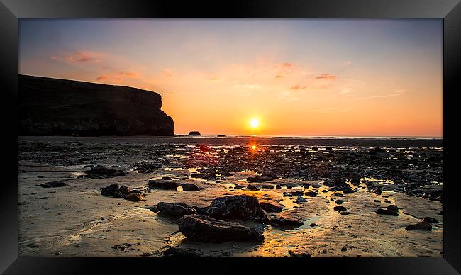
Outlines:
[[[17,77],[18,18],[443,18],[444,232],[440,258],[311,259],[152,259],[18,257]],[[174,271],[294,272],[349,271],[355,274],[457,274],[461,272],[461,217],[457,156],[457,118],[461,91],[460,0],[324,0],[324,1],[142,1],[142,0],[0,0],[0,76],[4,166],[0,188],[0,272],[5,274],[96,274],[138,269]],[[238,264],[234,264],[238,262]],[[180,264],[179,264],[180,263]],[[210,264],[213,266],[210,267]],[[266,270],[265,270],[266,269]]]

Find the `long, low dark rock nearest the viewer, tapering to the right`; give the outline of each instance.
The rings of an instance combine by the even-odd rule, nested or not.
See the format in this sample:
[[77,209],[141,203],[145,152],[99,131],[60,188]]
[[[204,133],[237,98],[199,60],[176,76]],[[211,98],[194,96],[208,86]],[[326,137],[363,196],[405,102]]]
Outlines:
[[262,242],[264,235],[255,228],[230,223],[206,215],[184,215],[179,219],[179,231],[190,240],[199,242],[252,241]]

